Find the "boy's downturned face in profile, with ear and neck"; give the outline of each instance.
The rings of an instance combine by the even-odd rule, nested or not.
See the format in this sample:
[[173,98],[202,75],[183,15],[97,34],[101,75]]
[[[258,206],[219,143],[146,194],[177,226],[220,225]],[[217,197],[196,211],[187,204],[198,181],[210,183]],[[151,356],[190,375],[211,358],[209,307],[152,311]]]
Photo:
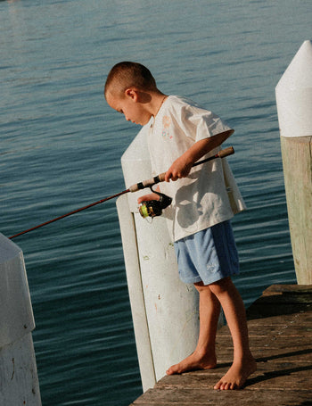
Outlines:
[[124,114],[127,121],[144,126],[151,119],[152,114],[144,109],[144,104],[139,103],[137,96],[128,93],[123,96],[114,96],[109,93],[106,101],[116,112]]

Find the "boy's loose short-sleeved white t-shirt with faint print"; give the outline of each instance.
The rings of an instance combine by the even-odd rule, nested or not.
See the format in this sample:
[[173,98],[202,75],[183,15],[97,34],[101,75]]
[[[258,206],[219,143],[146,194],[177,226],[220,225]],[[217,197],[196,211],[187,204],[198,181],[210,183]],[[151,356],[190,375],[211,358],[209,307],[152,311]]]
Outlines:
[[[214,113],[176,95],[167,97],[156,117],[146,126],[154,176],[167,171],[197,141],[231,129]],[[219,150],[219,147],[214,149],[201,160]],[[173,199],[165,215],[174,241],[230,220],[234,212],[244,209],[242,196],[227,162],[222,162],[224,160],[206,162],[193,168],[187,178],[160,184],[160,191]],[[232,194],[235,192],[234,210],[227,187]]]

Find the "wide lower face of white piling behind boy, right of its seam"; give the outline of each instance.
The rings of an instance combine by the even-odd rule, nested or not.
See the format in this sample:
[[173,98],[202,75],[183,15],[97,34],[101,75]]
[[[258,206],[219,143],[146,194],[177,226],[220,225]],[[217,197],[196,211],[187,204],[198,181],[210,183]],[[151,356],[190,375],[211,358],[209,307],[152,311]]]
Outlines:
[[199,329],[198,294],[178,277],[177,260],[166,220],[149,223],[135,213],[145,310],[156,380],[190,355]]

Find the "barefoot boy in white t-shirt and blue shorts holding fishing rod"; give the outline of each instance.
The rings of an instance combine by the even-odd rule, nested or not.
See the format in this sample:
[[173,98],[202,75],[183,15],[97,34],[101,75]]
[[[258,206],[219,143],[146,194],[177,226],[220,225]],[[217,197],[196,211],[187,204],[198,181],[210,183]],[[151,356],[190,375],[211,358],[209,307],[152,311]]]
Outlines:
[[[185,283],[193,283],[200,294],[196,349],[171,366],[167,374],[216,367],[215,342],[222,306],[234,342],[234,361],[214,388],[239,389],[257,367],[250,352],[242,298],[231,279],[239,271],[229,222],[234,211],[227,197],[221,160],[192,168],[201,157],[217,153],[234,130],[193,102],[160,92],[150,70],[140,63],[115,65],[104,94],[111,108],[124,114],[126,120],[149,128],[152,170],[155,174],[166,171],[161,191],[173,198],[170,228],[179,275]],[[138,203],[158,198],[155,194],[144,195]]]

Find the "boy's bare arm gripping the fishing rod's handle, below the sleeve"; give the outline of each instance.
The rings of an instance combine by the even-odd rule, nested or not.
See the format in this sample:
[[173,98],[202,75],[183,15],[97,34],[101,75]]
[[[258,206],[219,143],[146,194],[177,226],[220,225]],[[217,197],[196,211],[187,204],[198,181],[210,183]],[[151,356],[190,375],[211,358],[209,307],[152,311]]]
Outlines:
[[166,172],[165,180],[177,180],[185,178],[190,173],[193,163],[197,162],[203,155],[209,153],[217,146],[226,141],[226,138],[232,136],[234,129],[230,129],[214,137],[209,137],[197,141],[185,153],[183,153]]

